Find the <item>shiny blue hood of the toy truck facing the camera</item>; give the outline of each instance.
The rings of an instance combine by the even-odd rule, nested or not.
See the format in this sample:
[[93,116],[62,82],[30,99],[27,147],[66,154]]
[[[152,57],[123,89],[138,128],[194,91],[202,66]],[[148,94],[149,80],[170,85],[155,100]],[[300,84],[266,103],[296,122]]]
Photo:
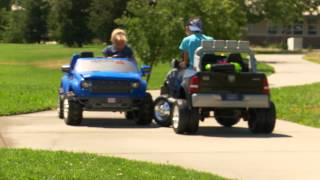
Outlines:
[[84,79],[122,79],[122,80],[141,80],[139,73],[120,73],[120,72],[83,72],[80,76]]

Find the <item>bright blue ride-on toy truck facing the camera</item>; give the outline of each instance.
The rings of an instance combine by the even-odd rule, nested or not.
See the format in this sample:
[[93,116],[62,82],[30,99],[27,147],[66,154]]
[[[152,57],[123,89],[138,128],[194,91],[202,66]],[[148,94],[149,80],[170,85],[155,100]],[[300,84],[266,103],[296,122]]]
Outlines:
[[83,111],[125,112],[138,125],[152,122],[153,100],[142,79],[150,67],[138,70],[128,59],[94,58],[84,52],[61,69],[58,115],[67,125],[81,124]]

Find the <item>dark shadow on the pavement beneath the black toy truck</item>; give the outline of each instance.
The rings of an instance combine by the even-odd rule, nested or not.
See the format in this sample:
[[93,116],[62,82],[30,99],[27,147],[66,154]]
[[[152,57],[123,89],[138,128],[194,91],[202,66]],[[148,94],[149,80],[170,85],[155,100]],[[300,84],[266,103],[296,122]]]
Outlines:
[[199,136],[225,137],[225,138],[291,138],[286,134],[253,134],[248,128],[233,127],[200,127]]

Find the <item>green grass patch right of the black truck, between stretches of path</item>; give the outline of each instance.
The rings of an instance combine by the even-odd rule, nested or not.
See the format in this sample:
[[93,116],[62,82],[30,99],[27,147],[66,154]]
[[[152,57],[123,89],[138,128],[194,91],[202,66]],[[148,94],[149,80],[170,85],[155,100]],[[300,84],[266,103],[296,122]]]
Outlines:
[[278,118],[312,127],[320,127],[320,83],[277,88],[272,99]]

